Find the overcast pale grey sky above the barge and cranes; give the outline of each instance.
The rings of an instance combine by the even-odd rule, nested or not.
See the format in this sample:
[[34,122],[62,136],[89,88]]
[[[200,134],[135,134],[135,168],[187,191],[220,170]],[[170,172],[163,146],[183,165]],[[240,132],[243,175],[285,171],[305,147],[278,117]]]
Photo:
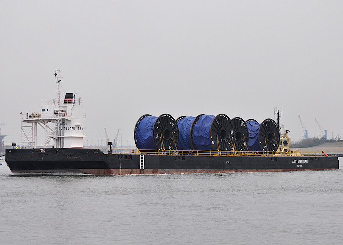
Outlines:
[[0,2],[0,113],[5,143],[20,142],[20,112],[77,93],[89,143],[137,119],[225,113],[274,118],[293,140],[342,138],[342,0]]

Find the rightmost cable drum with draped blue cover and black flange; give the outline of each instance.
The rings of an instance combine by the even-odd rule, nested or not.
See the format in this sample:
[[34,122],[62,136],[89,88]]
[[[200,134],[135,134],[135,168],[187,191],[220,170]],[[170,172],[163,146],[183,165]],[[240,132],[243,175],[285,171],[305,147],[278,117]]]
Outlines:
[[280,131],[274,120],[268,118],[259,124],[254,119],[246,122],[249,131],[249,151],[276,151],[280,141]]

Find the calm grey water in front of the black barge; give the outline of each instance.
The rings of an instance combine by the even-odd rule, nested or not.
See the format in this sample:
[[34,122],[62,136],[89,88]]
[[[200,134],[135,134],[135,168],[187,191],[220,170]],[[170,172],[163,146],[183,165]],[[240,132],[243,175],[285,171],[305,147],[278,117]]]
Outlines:
[[1,244],[343,243],[342,166],[104,177],[1,163]]

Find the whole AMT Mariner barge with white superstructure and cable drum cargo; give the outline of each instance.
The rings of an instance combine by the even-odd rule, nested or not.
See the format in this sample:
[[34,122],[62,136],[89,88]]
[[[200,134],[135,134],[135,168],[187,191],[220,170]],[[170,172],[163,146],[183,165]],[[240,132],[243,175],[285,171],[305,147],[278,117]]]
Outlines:
[[[58,74],[57,74],[58,73]],[[266,119],[232,120],[225,114],[140,117],[134,129],[137,148],[130,150],[83,147],[81,98],[66,93],[60,100],[62,78],[57,70],[57,100],[44,101],[39,112],[22,115],[19,149],[6,149],[14,173],[162,174],[274,172],[338,169],[337,156],[301,154],[289,148],[288,131]],[[37,147],[37,127],[45,131]],[[53,140],[53,148],[48,147]]]

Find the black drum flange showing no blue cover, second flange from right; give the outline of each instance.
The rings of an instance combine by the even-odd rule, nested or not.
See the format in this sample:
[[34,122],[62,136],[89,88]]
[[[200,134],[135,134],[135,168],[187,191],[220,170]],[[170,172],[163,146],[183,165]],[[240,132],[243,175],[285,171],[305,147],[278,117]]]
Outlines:
[[245,121],[240,117],[236,117],[231,119],[231,123],[235,132],[233,139],[235,150],[248,151],[249,132]]

